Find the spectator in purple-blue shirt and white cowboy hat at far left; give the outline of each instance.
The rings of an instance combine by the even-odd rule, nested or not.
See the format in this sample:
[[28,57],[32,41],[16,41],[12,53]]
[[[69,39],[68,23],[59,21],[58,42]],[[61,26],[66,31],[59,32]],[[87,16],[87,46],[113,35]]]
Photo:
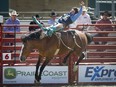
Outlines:
[[[20,25],[20,21],[17,18],[17,16],[19,15],[15,10],[13,10],[11,13],[9,13],[10,18],[6,20],[5,24],[16,24],[16,25]],[[14,32],[12,34],[7,33],[5,34],[5,38],[15,38],[15,32],[20,32],[20,27],[19,26],[12,26],[12,27],[4,27],[4,32]],[[5,43],[5,45],[14,45],[13,43]]]

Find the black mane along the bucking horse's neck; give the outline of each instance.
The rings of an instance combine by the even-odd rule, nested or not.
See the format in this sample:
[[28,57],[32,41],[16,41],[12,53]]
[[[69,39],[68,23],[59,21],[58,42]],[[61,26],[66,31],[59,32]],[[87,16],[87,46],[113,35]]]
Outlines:
[[23,42],[27,42],[27,40],[40,39],[41,32],[42,32],[42,30],[32,32],[28,35],[22,36],[21,39],[22,39]]

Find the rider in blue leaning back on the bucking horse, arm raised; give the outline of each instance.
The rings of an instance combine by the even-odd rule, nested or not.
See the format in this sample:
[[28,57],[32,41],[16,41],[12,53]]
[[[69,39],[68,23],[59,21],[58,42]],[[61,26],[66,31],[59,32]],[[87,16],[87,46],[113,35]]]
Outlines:
[[50,27],[43,27],[36,19],[33,17],[33,20],[42,28],[43,31],[46,32],[46,36],[52,36],[53,33],[63,30],[69,24],[72,24],[81,14],[82,14],[82,6],[84,2],[81,2],[80,10],[76,8],[72,8],[68,14],[64,14],[58,19],[58,23],[56,25],[51,25]]

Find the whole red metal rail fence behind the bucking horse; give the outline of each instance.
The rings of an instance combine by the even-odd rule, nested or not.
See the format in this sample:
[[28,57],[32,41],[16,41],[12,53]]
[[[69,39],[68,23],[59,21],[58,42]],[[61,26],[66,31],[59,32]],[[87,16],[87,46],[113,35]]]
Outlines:
[[[11,32],[3,32],[3,26],[9,25],[0,25],[0,77],[3,78],[3,66],[28,66],[28,65],[35,65],[38,57],[38,52],[32,52],[30,56],[27,58],[26,63],[19,62],[19,54],[21,50],[21,39],[20,36],[26,33],[27,31],[15,32],[15,38],[4,38],[4,34],[14,34]],[[14,26],[14,25],[10,25]],[[36,25],[35,25],[36,26]],[[81,26],[88,26],[88,25],[81,25]],[[89,25],[95,26],[95,25]],[[99,25],[96,25],[99,26]],[[111,26],[111,25],[110,25]],[[116,26],[115,24],[113,26]],[[28,25],[20,25],[20,27],[28,27]],[[86,50],[86,58],[81,61],[80,64],[116,64],[116,31],[87,31],[91,34],[94,33],[109,33],[111,36],[108,37],[94,37],[93,42],[109,42],[107,45],[95,45],[94,43],[88,45]],[[6,42],[15,42],[15,45],[12,46],[5,46]],[[105,51],[97,51],[97,50],[105,50]],[[11,50],[11,60],[3,60],[3,52],[7,50]],[[65,55],[65,54],[64,54]],[[68,62],[68,70],[69,70],[69,78],[68,83],[73,83],[74,79],[74,72],[73,72],[73,65],[75,61],[77,61],[78,57],[72,55]],[[60,65],[62,63],[61,57],[56,57],[51,60],[49,65]],[[2,79],[0,79],[0,84],[3,85]]]

